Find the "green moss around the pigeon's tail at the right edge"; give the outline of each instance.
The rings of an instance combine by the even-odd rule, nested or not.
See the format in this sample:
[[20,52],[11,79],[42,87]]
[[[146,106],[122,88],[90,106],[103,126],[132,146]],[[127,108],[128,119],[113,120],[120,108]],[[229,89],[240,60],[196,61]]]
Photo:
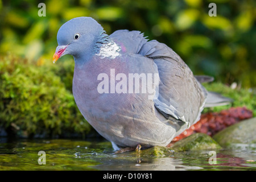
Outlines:
[[233,103],[226,106],[218,106],[212,108],[204,109],[204,112],[214,111],[219,112],[224,109],[229,109],[230,106],[233,107],[242,107],[245,106],[247,109],[253,111],[253,115],[256,116],[256,90],[245,89],[245,88],[236,88],[232,89],[229,86],[221,84],[220,82],[212,82],[209,84],[203,84],[205,88],[212,92],[217,92],[222,94],[225,97],[233,99]]

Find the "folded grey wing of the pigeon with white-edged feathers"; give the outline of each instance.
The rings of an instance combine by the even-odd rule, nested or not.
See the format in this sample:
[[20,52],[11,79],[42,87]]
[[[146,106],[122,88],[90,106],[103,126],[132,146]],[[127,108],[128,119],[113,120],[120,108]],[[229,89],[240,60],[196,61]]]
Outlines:
[[207,91],[193,76],[187,64],[166,44],[156,40],[145,43],[139,51],[158,67],[159,97],[155,107],[170,119],[192,125],[203,110]]

